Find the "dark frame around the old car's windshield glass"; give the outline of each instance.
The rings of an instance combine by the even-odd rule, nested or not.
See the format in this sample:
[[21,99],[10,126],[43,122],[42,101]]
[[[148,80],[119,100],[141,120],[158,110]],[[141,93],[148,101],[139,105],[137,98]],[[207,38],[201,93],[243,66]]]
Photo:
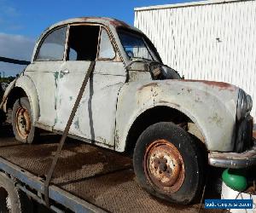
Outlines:
[[155,62],[162,63],[162,60],[161,60],[161,58],[160,58],[160,55],[159,55],[157,49],[154,47],[154,44],[149,40],[148,37],[146,37],[146,35],[143,34],[143,32],[139,32],[139,31],[127,29],[127,28],[125,28],[125,27],[118,27],[118,28],[116,29],[116,31],[117,31],[117,35],[118,35],[118,37],[119,37],[119,42],[120,42],[120,44],[121,44],[121,47],[122,47],[122,49],[124,50],[125,55],[127,56],[127,58],[128,58],[129,60],[136,61],[136,60],[141,59],[141,60],[143,61],[143,60],[149,60],[149,59],[143,59],[143,58],[140,58],[140,57],[134,57],[134,58],[132,59],[131,56],[128,55],[127,52],[125,51],[125,47],[124,47],[124,45],[123,45],[123,43],[121,42],[121,39],[120,39],[120,35],[119,35],[120,32],[124,32],[125,34],[130,34],[130,35],[132,35],[132,36],[134,36],[134,37],[142,37],[143,43],[145,44],[145,47],[146,47],[146,49],[148,50],[148,54],[149,54],[149,55],[151,56],[151,58],[152,58],[152,60],[150,60],[150,61],[155,61]]

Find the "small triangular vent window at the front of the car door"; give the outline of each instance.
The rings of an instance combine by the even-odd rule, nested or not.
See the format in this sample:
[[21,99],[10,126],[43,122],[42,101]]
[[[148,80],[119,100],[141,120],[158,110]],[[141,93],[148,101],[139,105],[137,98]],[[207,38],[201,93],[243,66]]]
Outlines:
[[108,36],[108,32],[102,27],[99,59],[111,60],[114,58],[114,56],[115,52]]

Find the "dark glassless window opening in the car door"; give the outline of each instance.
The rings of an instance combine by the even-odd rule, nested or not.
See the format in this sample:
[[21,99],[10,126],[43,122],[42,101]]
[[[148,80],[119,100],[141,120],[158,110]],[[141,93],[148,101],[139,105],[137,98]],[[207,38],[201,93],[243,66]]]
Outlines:
[[96,60],[100,26],[70,26],[67,60]]

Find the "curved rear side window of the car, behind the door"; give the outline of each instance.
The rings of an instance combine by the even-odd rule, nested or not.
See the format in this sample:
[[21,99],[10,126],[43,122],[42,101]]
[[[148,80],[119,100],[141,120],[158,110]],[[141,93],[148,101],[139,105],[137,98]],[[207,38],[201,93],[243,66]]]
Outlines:
[[67,26],[50,32],[40,46],[36,60],[62,60],[67,35]]

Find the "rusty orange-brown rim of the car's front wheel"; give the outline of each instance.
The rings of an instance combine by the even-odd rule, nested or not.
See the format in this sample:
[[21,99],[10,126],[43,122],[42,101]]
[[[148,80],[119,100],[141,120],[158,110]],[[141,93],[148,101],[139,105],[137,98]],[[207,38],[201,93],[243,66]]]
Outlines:
[[175,193],[183,184],[183,158],[169,141],[150,144],[144,156],[144,171],[150,184],[160,191]]

